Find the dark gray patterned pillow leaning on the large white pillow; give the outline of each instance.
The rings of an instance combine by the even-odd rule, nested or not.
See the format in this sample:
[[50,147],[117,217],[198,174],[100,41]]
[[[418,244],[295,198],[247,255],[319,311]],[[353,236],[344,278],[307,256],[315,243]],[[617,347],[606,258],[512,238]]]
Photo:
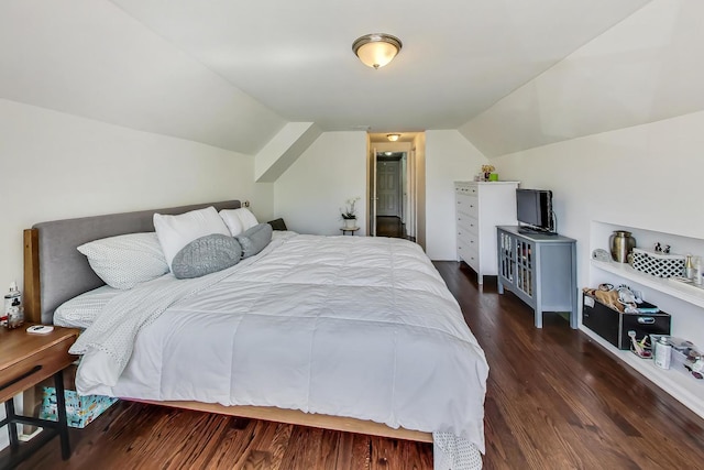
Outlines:
[[193,278],[234,266],[242,259],[242,247],[232,237],[213,233],[200,237],[184,247],[172,262],[172,272],[179,278]]

